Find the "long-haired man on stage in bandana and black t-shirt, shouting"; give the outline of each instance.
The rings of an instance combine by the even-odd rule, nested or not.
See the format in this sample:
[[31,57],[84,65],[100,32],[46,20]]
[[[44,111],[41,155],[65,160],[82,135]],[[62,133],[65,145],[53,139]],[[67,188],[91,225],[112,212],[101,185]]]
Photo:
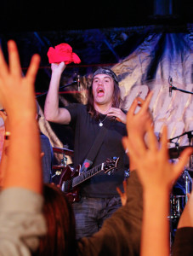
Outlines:
[[59,108],[60,77],[65,63],[51,64],[52,77],[45,102],[45,118],[50,122],[71,125],[74,130],[74,166],[82,165],[102,126],[107,129],[103,143],[91,167],[111,157],[119,158],[117,171],[110,175],[99,172],[81,184],[81,201],[73,203],[77,238],[91,236],[99,230],[105,218],[121,207],[116,187],[122,186],[125,155],[122,137],[127,135],[126,113],[121,109],[121,96],[116,74],[100,67],[93,75],[88,90],[88,104],[73,103]]

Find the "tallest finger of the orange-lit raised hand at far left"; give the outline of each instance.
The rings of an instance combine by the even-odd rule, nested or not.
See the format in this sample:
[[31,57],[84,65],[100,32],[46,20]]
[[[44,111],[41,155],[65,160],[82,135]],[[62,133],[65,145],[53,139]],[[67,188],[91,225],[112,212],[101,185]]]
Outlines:
[[8,50],[9,50],[9,71],[15,76],[20,76],[21,68],[20,68],[20,56],[18,53],[17,46],[13,40],[8,42]]

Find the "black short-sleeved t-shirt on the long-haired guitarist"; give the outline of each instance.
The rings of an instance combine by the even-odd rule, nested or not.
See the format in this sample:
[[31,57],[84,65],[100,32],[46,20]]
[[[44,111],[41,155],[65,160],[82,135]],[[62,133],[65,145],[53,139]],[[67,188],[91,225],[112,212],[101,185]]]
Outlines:
[[[87,106],[82,104],[71,104],[66,107],[71,114],[71,127],[74,130],[74,166],[82,165],[87,158],[89,149],[92,147],[95,137],[97,137],[101,127],[99,119],[105,119],[101,114],[99,119],[94,119],[87,111]],[[106,120],[106,119],[105,119]],[[103,122],[106,125],[106,122]],[[99,152],[91,166],[98,166],[105,162],[107,158],[119,157],[117,171],[111,175],[99,172],[94,177],[89,178],[81,185],[82,195],[88,197],[111,197],[117,196],[116,187],[122,185],[124,178],[125,150],[122,147],[122,137],[127,135],[126,125],[114,119],[105,135],[104,142],[99,148]]]

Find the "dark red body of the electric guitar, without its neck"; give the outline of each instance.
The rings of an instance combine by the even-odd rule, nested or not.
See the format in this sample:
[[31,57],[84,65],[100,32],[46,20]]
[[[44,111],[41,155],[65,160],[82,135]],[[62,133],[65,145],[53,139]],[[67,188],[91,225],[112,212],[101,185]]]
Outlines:
[[80,166],[78,166],[75,170],[73,169],[74,168],[72,168],[71,166],[66,166],[61,174],[59,182],[61,190],[65,193],[66,197],[71,203],[75,201],[80,201],[79,187],[76,186],[72,188],[71,186],[72,179],[79,175]]

